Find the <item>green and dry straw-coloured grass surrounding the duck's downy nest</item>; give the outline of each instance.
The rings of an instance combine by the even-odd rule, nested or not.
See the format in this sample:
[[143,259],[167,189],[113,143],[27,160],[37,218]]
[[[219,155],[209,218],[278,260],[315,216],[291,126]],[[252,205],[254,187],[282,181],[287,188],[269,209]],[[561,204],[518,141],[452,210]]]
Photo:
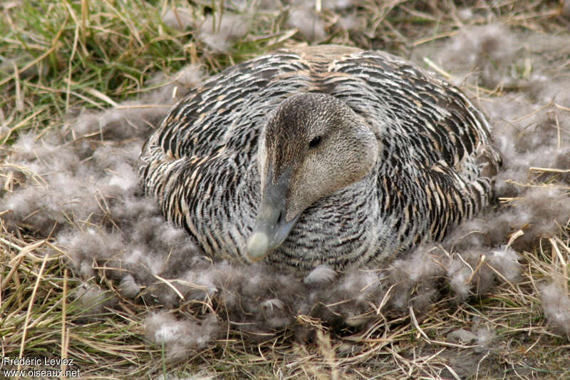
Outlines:
[[[206,19],[213,11],[215,27],[221,22],[220,12],[212,5],[219,4],[192,3],[190,19]],[[179,30],[161,22],[161,16],[175,5],[184,6],[170,1],[4,2],[0,6],[3,148],[9,149],[24,132],[40,137],[46,130],[62,128],[70,115],[83,108],[105,109],[152,91],[155,86],[147,81],[157,72],[173,74],[192,62],[215,73],[276,47],[305,42],[286,22],[295,7],[284,4],[277,10],[258,9],[255,26],[231,41],[227,53],[219,53],[204,43],[197,27]],[[471,11],[467,19],[464,9]],[[452,1],[361,1],[346,10],[321,9],[326,34],[318,42],[379,48],[410,57],[418,48],[430,50],[466,25],[494,22],[520,31],[567,33],[570,20],[563,9],[559,1],[494,1],[492,5],[477,1],[469,6]],[[221,19],[226,12],[222,11]],[[346,29],[341,21],[347,17],[361,24]],[[567,57],[553,58],[553,78],[569,72]],[[483,102],[492,102],[506,91],[502,86],[479,84],[467,81],[466,88]],[[522,110],[520,116],[517,122],[524,124],[527,112]],[[9,155],[2,159],[0,175],[6,194],[18,188],[19,178],[8,170]],[[529,168],[533,166],[529,163]],[[530,170],[539,176],[522,186],[546,186],[564,174]],[[570,215],[567,220],[570,223]],[[561,225],[557,235],[537,238],[532,246],[519,250],[522,279],[504,282],[484,297],[455,302],[451,292],[444,292],[422,314],[414,309],[380,313],[364,330],[338,329],[304,315],[297,316],[294,327],[266,337],[228,328],[222,339],[183,361],[167,359],[164,346],[152,346],[145,338],[145,317],[160,307],[122,297],[103,270],[91,280],[101,291],[90,307],[77,302],[72,296],[84,292],[83,280],[66,264],[66,252],[53,246],[50,236],[30,230],[26,220],[20,227],[8,232],[3,223],[0,234],[2,355],[72,358],[73,369],[79,369],[83,378],[570,377],[568,332],[549,325],[541,298],[541,287],[548,282],[570,294],[568,225]],[[53,252],[49,257],[41,253],[46,247]],[[197,309],[196,304],[184,304],[174,312],[188,315]],[[314,334],[296,339],[298,327]],[[462,335],[462,330],[470,334]]]

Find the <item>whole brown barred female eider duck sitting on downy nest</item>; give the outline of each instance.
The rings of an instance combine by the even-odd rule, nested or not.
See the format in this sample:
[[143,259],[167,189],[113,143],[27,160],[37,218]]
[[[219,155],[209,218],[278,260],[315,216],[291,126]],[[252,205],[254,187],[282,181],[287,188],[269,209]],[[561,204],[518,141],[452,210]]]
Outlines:
[[457,88],[380,51],[314,46],[228,68],[142,152],[145,192],[214,257],[387,265],[489,202],[499,155]]

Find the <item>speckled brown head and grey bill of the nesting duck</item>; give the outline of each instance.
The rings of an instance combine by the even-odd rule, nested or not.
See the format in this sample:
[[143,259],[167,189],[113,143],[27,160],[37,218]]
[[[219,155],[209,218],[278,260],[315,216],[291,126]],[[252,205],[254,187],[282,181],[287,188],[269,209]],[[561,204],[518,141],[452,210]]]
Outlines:
[[291,96],[269,117],[257,155],[261,203],[247,241],[250,260],[279,247],[307,207],[370,173],[378,143],[359,120],[323,93]]

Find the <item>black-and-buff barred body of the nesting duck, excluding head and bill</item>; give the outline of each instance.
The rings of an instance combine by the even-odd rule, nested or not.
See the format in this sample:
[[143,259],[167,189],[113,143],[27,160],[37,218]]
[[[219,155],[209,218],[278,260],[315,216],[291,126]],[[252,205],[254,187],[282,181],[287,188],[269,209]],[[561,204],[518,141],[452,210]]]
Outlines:
[[[277,51],[190,91],[142,153],[145,191],[207,252],[244,256],[259,204],[261,129],[285,98],[306,92],[348,104],[377,136],[380,160],[360,188],[307,209],[269,261],[310,268],[386,260],[441,239],[488,202],[490,179],[482,170],[487,165],[491,173],[499,157],[487,121],[465,95],[390,54],[341,46]],[[345,196],[355,205],[344,204]],[[336,227],[339,220],[344,227]],[[323,247],[322,254],[311,247],[326,245],[328,236],[346,244]]]

